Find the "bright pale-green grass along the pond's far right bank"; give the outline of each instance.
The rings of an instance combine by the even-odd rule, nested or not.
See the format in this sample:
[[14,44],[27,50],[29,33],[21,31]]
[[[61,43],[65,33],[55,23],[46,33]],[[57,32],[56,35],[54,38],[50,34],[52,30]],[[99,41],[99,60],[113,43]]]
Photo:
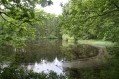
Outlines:
[[[63,40],[67,43],[63,43],[63,45],[72,45],[74,43],[74,38],[70,37],[67,34],[63,34],[62,36]],[[103,41],[103,40],[78,40],[79,44],[88,44],[92,46],[97,46],[97,47],[113,47],[116,43],[110,42],[110,41]],[[67,44],[67,45],[66,45]]]

